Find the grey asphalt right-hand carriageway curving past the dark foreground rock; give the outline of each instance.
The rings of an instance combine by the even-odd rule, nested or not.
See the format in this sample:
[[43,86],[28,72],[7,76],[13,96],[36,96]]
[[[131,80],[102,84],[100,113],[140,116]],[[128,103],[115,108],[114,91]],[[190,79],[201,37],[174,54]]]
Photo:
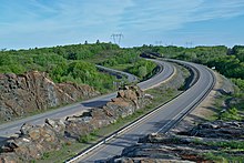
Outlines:
[[124,147],[135,144],[140,136],[149,133],[167,132],[175,122],[194,109],[209,94],[210,90],[212,90],[215,84],[215,77],[203,65],[183,61],[176,62],[193,67],[199,72],[197,81],[193,86],[150,115],[146,115],[146,118],[143,118],[123,133],[115,135],[110,141],[105,141],[87,155],[78,156],[79,159],[68,162],[100,162],[108,157],[120,155]]

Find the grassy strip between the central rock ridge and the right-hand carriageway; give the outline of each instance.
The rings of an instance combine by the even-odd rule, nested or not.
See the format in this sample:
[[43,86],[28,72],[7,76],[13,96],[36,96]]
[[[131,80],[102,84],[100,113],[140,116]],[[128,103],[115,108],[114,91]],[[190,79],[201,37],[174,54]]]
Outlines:
[[88,147],[92,143],[98,142],[99,140],[105,137],[106,135],[113,133],[118,129],[121,129],[133,122],[134,120],[143,116],[148,112],[154,110],[156,106],[162,105],[163,103],[170,101],[174,96],[176,96],[182,91],[180,90],[182,84],[186,84],[185,80],[190,77],[190,72],[187,69],[183,67],[177,67],[177,74],[171,81],[161,84],[157,88],[150,89],[145,93],[153,95],[153,100],[145,108],[135,111],[132,115],[125,116],[124,119],[119,119],[115,123],[110,124],[105,128],[96,130],[90,134],[81,136],[79,142],[71,142],[63,144],[63,147],[60,151],[54,151],[50,153],[45,153],[42,160],[38,160],[35,162],[61,162],[63,160],[70,159],[75,155],[75,153],[80,152],[82,149]]

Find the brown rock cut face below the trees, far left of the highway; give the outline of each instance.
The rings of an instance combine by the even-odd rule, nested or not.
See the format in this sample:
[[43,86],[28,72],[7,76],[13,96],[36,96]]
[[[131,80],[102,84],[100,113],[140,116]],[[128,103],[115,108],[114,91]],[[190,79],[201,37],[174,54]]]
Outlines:
[[0,119],[10,120],[35,110],[45,110],[98,94],[89,85],[55,84],[44,72],[0,74]]

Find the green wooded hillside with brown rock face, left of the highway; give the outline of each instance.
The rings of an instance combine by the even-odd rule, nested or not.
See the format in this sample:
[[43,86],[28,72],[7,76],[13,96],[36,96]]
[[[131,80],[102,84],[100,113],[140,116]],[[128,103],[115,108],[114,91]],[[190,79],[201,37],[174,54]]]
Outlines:
[[2,50],[1,120],[41,113],[114,91],[114,82],[122,83],[121,80],[95,67],[96,63],[113,68],[111,61],[141,79],[150,78],[156,67],[139,58],[138,52],[112,43]]

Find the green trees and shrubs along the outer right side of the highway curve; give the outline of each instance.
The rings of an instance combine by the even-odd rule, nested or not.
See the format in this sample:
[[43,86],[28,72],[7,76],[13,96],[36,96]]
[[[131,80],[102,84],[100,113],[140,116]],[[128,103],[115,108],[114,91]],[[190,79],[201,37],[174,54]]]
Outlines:
[[182,48],[182,47],[153,47],[143,45],[138,48],[148,55],[160,55],[164,58],[173,58],[179,60],[185,60],[205,64],[215,69],[220,73],[230,78],[238,89],[234,94],[225,96],[227,101],[232,101],[228,104],[228,109],[218,115],[221,120],[243,120],[244,111],[244,47],[235,45],[228,49],[224,45],[217,47],[195,47],[195,48]]

